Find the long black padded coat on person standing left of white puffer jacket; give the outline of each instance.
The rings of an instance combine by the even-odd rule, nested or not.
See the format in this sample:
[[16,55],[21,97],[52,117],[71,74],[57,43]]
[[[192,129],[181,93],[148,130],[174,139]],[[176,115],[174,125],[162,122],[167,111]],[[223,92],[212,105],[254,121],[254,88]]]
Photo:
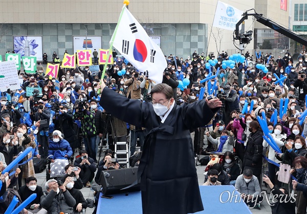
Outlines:
[[245,155],[243,159],[244,169],[251,169],[253,175],[257,176],[261,174],[262,167],[262,131],[257,130],[254,133],[251,133],[248,137],[246,144]]

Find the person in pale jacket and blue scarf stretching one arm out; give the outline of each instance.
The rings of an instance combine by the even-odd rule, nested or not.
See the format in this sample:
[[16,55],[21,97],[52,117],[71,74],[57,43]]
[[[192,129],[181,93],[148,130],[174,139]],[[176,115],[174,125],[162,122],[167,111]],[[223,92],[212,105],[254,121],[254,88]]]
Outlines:
[[232,131],[229,132],[228,136],[228,131],[222,130],[220,139],[214,139],[212,136],[210,136],[209,132],[207,132],[206,135],[208,137],[208,140],[212,142],[212,144],[217,145],[216,152],[233,152],[234,139]]

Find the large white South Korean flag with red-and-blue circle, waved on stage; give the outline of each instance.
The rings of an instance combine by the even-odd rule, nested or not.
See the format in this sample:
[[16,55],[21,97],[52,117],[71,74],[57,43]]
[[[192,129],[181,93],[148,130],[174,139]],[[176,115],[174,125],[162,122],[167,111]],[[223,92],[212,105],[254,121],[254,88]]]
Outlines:
[[113,46],[140,72],[148,71],[149,79],[162,83],[167,63],[160,47],[149,38],[126,7],[123,7],[117,25],[118,30],[111,39]]

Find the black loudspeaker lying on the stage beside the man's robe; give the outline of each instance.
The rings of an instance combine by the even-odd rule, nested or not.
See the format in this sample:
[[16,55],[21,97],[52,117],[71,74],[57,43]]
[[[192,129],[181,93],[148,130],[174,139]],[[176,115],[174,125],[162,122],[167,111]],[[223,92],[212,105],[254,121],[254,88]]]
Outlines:
[[138,168],[124,168],[119,170],[102,171],[99,183],[102,186],[103,195],[140,191],[140,179],[138,184],[123,189],[138,179]]

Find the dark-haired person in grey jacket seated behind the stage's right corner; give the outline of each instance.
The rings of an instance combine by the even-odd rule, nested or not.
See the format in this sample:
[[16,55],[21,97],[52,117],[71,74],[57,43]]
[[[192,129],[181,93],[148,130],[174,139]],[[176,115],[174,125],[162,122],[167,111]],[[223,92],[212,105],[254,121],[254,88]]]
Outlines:
[[261,188],[257,177],[253,175],[251,169],[244,169],[243,174],[237,177],[234,186],[249,208],[260,209],[259,202],[262,201]]

